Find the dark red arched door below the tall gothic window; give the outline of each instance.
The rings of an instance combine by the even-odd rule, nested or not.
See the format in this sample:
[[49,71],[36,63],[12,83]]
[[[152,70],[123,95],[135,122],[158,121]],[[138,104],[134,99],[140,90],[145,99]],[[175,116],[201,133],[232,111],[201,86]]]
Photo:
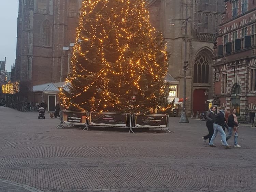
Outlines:
[[206,110],[207,96],[204,95],[205,89],[195,89],[193,93],[193,111],[204,112]]

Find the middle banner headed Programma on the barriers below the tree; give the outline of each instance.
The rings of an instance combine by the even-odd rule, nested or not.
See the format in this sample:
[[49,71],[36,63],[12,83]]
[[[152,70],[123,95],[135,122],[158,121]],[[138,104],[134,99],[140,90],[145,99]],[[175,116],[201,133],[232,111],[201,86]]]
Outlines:
[[89,126],[128,127],[127,114],[118,113],[90,113]]

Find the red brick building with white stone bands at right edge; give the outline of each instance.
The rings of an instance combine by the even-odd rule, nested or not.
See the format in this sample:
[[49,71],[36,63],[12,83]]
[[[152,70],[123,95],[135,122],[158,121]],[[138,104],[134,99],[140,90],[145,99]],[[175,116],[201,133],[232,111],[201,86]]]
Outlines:
[[214,94],[222,106],[237,108],[241,119],[256,111],[256,3],[225,0],[214,58]]

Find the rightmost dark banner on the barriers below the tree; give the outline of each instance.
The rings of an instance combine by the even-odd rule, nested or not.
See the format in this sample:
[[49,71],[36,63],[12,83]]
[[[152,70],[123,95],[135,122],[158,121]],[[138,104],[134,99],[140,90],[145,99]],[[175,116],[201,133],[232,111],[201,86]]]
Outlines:
[[136,114],[135,127],[167,127],[167,116],[166,115],[143,115]]

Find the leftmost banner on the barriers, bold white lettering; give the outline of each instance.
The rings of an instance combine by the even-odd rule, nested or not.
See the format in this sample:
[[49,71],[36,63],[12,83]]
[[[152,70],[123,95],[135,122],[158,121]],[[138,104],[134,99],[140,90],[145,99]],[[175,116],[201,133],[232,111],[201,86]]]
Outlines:
[[86,115],[83,112],[64,111],[63,123],[86,125]]

